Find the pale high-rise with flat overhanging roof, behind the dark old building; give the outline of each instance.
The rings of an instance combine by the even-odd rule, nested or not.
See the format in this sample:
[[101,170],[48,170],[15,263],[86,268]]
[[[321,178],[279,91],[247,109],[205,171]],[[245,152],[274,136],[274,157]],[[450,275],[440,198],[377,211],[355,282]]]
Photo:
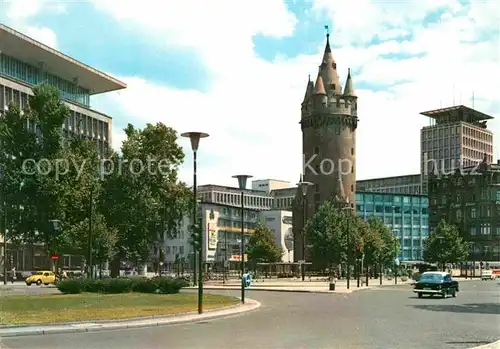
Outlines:
[[453,173],[486,159],[493,161],[493,133],[487,129],[492,116],[464,105],[422,112],[431,125],[420,132],[422,187],[427,193],[430,172]]

